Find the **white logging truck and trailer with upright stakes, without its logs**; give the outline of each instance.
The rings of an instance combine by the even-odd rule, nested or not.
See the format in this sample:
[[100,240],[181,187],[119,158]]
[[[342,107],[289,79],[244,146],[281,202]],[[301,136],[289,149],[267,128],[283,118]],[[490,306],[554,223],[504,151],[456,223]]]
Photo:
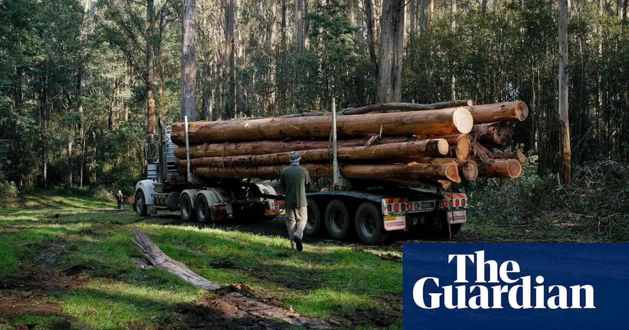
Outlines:
[[[335,124],[335,123],[334,123]],[[134,210],[139,216],[158,211],[179,211],[183,221],[274,219],[284,209],[284,197],[268,184],[250,180],[197,177],[192,174],[187,139],[187,169],[177,166],[171,140],[172,126],[159,120],[159,139],[149,136],[145,145],[147,179],[135,187]],[[309,192],[306,236],[327,233],[333,239],[358,238],[362,243],[391,241],[396,233],[410,237],[456,234],[467,222],[467,196],[439,188],[406,187],[377,180],[347,180],[337,162],[334,145],[333,186]],[[186,173],[186,175],[182,174]]]

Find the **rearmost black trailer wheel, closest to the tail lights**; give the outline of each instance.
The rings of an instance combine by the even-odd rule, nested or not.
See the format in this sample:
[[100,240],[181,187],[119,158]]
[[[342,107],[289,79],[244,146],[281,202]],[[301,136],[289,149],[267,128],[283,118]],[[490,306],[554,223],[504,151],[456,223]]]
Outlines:
[[386,241],[389,233],[384,230],[382,212],[371,202],[360,204],[354,220],[356,233],[362,243],[375,244]]

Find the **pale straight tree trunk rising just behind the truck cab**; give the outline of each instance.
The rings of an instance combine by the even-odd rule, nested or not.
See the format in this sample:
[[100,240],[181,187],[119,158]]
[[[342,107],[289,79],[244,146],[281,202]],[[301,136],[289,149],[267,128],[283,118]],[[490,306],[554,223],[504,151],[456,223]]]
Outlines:
[[[183,1],[182,18],[182,45],[181,45],[181,114],[179,121],[196,121],[196,53],[194,48],[194,36],[196,35],[196,8],[195,0]],[[205,98],[204,98],[205,99]]]

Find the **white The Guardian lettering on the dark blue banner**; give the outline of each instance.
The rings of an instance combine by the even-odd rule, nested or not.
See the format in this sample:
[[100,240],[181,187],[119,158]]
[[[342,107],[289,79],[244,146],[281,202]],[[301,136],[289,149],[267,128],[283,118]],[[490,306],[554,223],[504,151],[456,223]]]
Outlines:
[[[476,278],[467,278],[466,261],[476,267]],[[448,255],[456,267],[454,283],[423,277],[413,285],[413,300],[422,309],[596,309],[593,285],[548,285],[542,274],[521,276],[515,260],[486,260],[485,251]],[[525,271],[525,270],[524,270]],[[448,279],[451,280],[451,279]],[[470,282],[471,281],[471,282]],[[443,285],[443,286],[442,286]]]

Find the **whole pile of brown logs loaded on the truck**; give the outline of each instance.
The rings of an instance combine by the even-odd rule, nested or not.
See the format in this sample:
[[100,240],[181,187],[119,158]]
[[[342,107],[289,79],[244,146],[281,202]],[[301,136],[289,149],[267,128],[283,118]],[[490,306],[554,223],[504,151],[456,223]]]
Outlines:
[[[337,113],[337,155],[343,177],[449,189],[477,177],[520,176],[524,155],[496,153],[513,143],[509,121],[523,121],[521,101],[473,105],[373,104]],[[206,179],[277,179],[299,151],[311,177],[332,176],[332,116],[197,121],[189,123],[192,173]],[[175,156],[186,173],[184,123],[172,125]]]

